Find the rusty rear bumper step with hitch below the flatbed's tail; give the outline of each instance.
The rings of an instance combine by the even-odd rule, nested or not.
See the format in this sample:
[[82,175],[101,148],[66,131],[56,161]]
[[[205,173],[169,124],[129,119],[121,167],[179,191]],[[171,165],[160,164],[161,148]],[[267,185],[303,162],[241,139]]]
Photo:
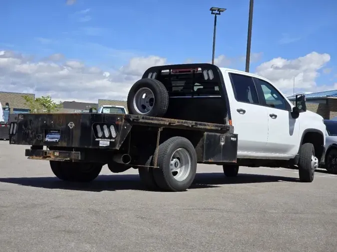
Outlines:
[[79,151],[63,151],[63,150],[43,150],[43,149],[25,149],[25,156],[28,159],[38,160],[83,160],[84,155]]

